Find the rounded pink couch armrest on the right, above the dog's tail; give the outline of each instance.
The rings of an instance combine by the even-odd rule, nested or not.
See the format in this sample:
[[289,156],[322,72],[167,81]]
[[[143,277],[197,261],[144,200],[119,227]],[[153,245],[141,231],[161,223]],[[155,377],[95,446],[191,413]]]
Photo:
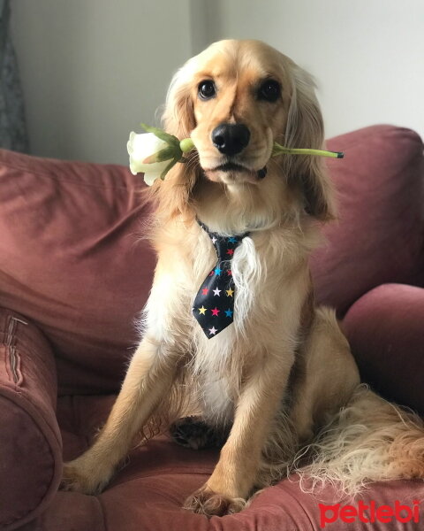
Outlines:
[[343,321],[363,381],[424,414],[424,289],[383,284]]

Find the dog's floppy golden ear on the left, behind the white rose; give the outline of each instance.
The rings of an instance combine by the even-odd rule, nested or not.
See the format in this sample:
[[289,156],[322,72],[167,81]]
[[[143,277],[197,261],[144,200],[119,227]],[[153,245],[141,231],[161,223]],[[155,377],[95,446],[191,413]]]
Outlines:
[[[163,128],[170,135],[182,140],[190,136],[195,127],[193,100],[189,81],[190,59],[172,78],[166,96],[162,121]],[[193,216],[190,209],[190,197],[198,172],[198,155],[193,150],[186,156],[185,164],[177,164],[167,173],[164,181],[157,180],[150,189],[150,198],[156,204],[156,216],[163,221],[175,218],[179,214]]]

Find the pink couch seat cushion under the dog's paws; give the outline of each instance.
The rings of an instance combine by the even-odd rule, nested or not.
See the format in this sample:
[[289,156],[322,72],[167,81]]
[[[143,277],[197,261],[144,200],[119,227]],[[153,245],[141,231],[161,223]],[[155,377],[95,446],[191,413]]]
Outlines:
[[[58,418],[63,427],[67,458],[75,457],[87,446],[95,424],[101,422],[112,402],[111,396],[59,399]],[[58,492],[34,527],[21,531],[319,531],[322,529],[319,504],[337,501],[336,491],[330,487],[317,497],[302,492],[296,476],[292,476],[265,489],[250,507],[238,514],[208,520],[182,510],[186,496],[207,481],[217,458],[216,450],[189,450],[170,442],[166,436],[156,437],[133,450],[126,466],[117,472],[101,495]],[[398,500],[412,507],[413,500],[421,500],[423,496],[422,481],[390,481],[375,483],[356,501],[344,503],[358,506],[359,500],[365,504],[374,500],[377,506],[394,507]],[[366,528],[419,531],[422,526],[422,521],[404,524],[392,520],[391,523],[376,521],[369,527],[360,519],[351,523],[339,519],[325,528],[328,531]]]

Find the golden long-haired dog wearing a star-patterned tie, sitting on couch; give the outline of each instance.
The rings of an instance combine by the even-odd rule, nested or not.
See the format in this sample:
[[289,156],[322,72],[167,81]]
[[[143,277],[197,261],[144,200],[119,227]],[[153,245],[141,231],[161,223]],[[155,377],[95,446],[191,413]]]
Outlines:
[[[148,189],[158,259],[142,338],[95,443],[64,465],[64,488],[99,492],[140,430],[167,427],[186,446],[222,445],[185,504],[208,517],[239,512],[293,470],[351,494],[423,478],[420,418],[360,383],[335,313],[314,305],[308,257],[337,216],[322,158],[271,158],[274,142],[322,148],[311,76],[263,42],[216,42],[174,76],[163,124],[196,151]],[[233,241],[229,256],[216,240]],[[232,283],[216,288],[216,307],[196,304],[221,273]]]

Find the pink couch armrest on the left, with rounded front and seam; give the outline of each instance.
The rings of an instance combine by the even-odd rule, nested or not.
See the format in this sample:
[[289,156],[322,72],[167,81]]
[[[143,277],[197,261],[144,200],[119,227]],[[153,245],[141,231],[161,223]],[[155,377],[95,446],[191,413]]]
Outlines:
[[57,373],[49,343],[17,313],[0,309],[0,528],[34,519],[57,491],[62,444]]

